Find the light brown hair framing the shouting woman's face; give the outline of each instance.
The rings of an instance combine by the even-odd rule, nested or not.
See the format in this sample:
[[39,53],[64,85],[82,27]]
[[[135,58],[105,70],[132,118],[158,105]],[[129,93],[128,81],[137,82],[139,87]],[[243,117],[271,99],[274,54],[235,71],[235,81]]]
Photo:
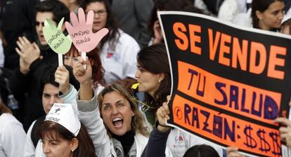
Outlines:
[[[112,83],[112,85],[104,88],[101,93],[99,93],[97,97],[97,101],[99,103],[99,111],[101,111],[102,103],[103,103],[103,97],[107,93],[117,92],[120,95],[122,95],[125,99],[129,101],[130,108],[134,112],[134,116],[131,118],[131,128],[135,131],[140,133],[141,135],[148,136],[149,132],[145,125],[143,124],[143,116],[141,115],[141,112],[138,110],[136,99],[132,97],[128,90],[117,83]],[[102,117],[102,114],[101,114]],[[105,125],[105,128],[108,130],[108,128]],[[110,130],[108,130],[108,134],[112,134]]]

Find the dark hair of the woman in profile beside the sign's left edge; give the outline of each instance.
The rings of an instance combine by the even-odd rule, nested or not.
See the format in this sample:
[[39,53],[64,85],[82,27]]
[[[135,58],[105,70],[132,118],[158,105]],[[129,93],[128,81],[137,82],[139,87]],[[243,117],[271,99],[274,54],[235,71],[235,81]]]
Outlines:
[[[171,91],[171,71],[169,68],[169,60],[167,50],[164,43],[158,43],[141,49],[137,55],[138,64],[153,74],[164,74],[164,79],[160,82],[159,88],[155,91],[153,99],[157,107],[163,102],[167,102],[167,95]],[[150,95],[145,95],[145,102],[151,104]]]

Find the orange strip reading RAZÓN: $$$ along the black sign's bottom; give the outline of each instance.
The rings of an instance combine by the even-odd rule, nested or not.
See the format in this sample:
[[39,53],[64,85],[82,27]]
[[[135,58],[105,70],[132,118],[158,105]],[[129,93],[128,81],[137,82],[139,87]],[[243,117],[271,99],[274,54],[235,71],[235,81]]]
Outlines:
[[280,155],[280,132],[214,111],[175,95],[174,123],[228,146],[238,146],[258,156]]

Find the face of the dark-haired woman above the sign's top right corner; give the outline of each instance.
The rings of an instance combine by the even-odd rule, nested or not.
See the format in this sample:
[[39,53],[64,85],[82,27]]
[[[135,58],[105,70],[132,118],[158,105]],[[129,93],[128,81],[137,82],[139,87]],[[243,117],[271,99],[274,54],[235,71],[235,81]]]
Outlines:
[[264,12],[256,11],[259,27],[264,30],[280,28],[284,16],[284,2],[274,1]]

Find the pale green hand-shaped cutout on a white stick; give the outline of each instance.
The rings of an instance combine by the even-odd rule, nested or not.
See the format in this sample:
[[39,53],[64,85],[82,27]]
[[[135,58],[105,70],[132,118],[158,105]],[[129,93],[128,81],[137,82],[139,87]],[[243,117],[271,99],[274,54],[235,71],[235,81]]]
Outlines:
[[46,39],[46,42],[48,43],[48,46],[51,47],[51,49],[58,53],[58,65],[63,65],[63,54],[67,53],[67,51],[70,50],[72,45],[72,40],[70,39],[70,36],[65,36],[62,31],[64,18],[60,20],[58,23],[58,28],[53,23],[52,20],[46,19],[44,21],[44,39]]

